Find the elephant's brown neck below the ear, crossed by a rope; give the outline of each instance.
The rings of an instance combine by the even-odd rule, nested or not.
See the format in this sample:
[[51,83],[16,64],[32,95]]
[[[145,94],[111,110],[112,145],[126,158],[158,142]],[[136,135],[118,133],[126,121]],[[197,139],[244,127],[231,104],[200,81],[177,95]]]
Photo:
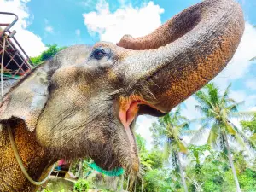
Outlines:
[[[0,126],[1,127],[1,126]],[[40,179],[44,170],[51,163],[49,153],[36,141],[34,132],[26,130],[23,122],[11,124],[20,158],[26,168],[26,172],[34,179]],[[32,191],[36,189],[30,183],[15,159],[13,148],[9,141],[8,131],[0,128],[0,191]]]

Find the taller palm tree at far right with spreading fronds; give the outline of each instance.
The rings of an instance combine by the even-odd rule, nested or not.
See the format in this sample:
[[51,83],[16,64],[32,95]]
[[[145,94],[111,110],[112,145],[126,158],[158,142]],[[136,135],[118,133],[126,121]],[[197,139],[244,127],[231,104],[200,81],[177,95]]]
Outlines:
[[207,128],[210,129],[207,143],[219,146],[228,154],[236,183],[236,191],[241,192],[230,153],[228,136],[239,143],[241,148],[247,148],[247,146],[255,148],[255,143],[233,125],[230,119],[250,116],[252,113],[238,112],[237,108],[241,102],[236,102],[230,98],[230,86],[231,84],[224,90],[223,95],[220,94],[218,87],[213,83],[207,84],[205,88],[195,93],[195,99],[199,102],[199,105],[195,105],[195,109],[199,110],[204,117],[200,119],[202,126],[192,137],[191,142],[198,140]]

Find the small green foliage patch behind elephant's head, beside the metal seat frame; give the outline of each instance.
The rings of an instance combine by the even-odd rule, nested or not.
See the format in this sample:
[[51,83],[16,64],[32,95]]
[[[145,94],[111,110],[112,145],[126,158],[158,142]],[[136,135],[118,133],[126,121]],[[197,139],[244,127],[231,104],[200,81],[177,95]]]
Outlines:
[[52,44],[52,45],[48,44],[47,47],[48,49],[44,50],[44,52],[41,55],[30,58],[34,65],[38,65],[44,61],[49,60],[54,55],[56,55],[59,51],[66,48],[66,47],[59,48],[57,44]]

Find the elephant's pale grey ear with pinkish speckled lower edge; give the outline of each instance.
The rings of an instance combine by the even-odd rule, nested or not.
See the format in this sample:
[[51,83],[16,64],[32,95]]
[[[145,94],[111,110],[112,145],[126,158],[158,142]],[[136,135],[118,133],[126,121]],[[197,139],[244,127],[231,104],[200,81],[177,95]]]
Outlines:
[[48,98],[47,65],[32,70],[15,84],[0,104],[0,123],[22,119],[28,131],[34,131],[38,117]]

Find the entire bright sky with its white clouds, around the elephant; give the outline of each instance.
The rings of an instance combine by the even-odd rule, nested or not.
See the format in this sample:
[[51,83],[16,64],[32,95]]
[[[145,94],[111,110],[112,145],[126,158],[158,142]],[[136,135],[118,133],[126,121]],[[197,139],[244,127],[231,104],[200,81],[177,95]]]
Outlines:
[[[26,52],[35,56],[46,44],[69,46],[95,44],[99,40],[116,43],[126,33],[134,37],[152,32],[173,15],[199,0],[0,0],[0,11],[15,12],[20,20],[15,25],[16,38]],[[232,83],[231,96],[245,100],[241,110],[256,110],[256,63],[248,61],[256,56],[256,1],[240,0],[246,30],[241,44],[228,67],[213,81],[221,90]],[[1,19],[1,18],[0,18]],[[9,20],[9,18],[3,18]],[[190,119],[200,116],[190,97],[183,114]],[[147,138],[148,127],[154,118],[137,121],[138,132]],[[238,124],[238,122],[235,122]],[[197,125],[195,125],[197,126]],[[196,128],[196,127],[195,127]]]

